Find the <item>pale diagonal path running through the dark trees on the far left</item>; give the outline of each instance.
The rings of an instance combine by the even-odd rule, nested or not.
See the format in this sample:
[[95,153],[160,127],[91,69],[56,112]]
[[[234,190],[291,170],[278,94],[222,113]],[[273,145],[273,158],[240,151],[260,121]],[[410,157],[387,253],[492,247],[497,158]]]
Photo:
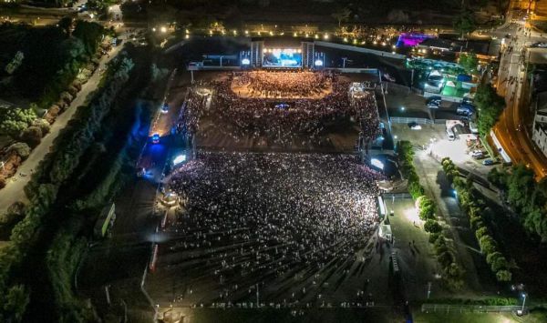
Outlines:
[[[0,189],[0,213],[4,213],[7,207],[11,206],[15,201],[26,202],[24,187],[30,180],[33,170],[38,166],[40,161],[44,159],[44,156],[50,151],[55,139],[59,136],[60,131],[67,126],[68,121],[72,119],[72,116],[76,113],[78,106],[83,106],[88,101],[88,96],[97,89],[100,81],[100,69],[104,69],[108,62],[119,54],[121,46],[113,47],[108,53],[108,56],[103,56],[100,60],[98,68],[93,75],[89,77],[88,82],[82,86],[80,92],[77,93],[76,98],[64,113],[57,117],[55,123],[51,126],[49,133],[42,138],[40,145],[36,146],[30,153],[30,156],[23,162],[23,164],[17,169],[17,174],[14,177],[9,178],[6,186]],[[20,173],[26,174],[26,177],[19,176]]]

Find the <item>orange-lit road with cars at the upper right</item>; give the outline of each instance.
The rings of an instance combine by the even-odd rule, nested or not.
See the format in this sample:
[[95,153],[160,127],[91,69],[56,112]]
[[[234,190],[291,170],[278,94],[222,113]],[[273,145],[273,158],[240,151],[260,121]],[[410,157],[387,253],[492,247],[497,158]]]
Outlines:
[[[526,107],[529,103],[527,96],[522,96],[522,92],[526,83],[525,66],[529,59],[526,46],[547,39],[528,28],[523,15],[525,13],[510,9],[508,22],[491,33],[505,37],[506,42],[501,49],[497,86],[498,93],[505,98],[507,106],[493,131],[513,163],[522,163],[531,167],[536,176],[542,178],[547,175],[545,169],[547,158],[533,144],[528,132]],[[506,37],[508,34],[511,37]]]

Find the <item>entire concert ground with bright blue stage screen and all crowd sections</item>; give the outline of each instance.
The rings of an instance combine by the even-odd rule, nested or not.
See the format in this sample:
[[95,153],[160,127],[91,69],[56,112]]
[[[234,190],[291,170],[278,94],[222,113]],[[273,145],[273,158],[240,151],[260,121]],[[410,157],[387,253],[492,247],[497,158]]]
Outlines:
[[317,56],[305,47],[253,43],[249,64],[188,92],[178,131],[194,157],[164,180],[180,207],[147,280],[154,299],[309,308],[385,297],[364,292],[385,178],[363,158],[381,135],[374,85],[306,67]]

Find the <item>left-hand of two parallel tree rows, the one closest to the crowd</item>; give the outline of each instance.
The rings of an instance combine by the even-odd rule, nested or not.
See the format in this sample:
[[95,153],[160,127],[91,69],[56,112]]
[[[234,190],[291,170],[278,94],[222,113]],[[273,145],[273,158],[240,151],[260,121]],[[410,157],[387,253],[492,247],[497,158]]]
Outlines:
[[397,143],[397,156],[399,169],[408,179],[408,191],[416,200],[419,217],[425,221],[424,230],[429,233],[429,242],[433,244],[433,250],[437,261],[443,270],[443,278],[449,288],[459,289],[463,286],[464,271],[459,267],[455,248],[442,234],[442,226],[439,224],[435,211],[437,205],[430,197],[426,196],[424,187],[419,183],[419,177],[414,166],[414,149],[407,140]]

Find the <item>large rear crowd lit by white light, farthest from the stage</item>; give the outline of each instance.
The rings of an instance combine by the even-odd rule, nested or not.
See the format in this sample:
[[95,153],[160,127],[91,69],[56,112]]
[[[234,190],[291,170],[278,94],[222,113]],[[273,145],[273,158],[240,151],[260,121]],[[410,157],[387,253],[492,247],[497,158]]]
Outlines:
[[200,286],[236,301],[260,286],[263,298],[304,299],[358,271],[380,177],[356,156],[201,152],[169,179],[182,208],[163,266],[183,272],[186,297]]

